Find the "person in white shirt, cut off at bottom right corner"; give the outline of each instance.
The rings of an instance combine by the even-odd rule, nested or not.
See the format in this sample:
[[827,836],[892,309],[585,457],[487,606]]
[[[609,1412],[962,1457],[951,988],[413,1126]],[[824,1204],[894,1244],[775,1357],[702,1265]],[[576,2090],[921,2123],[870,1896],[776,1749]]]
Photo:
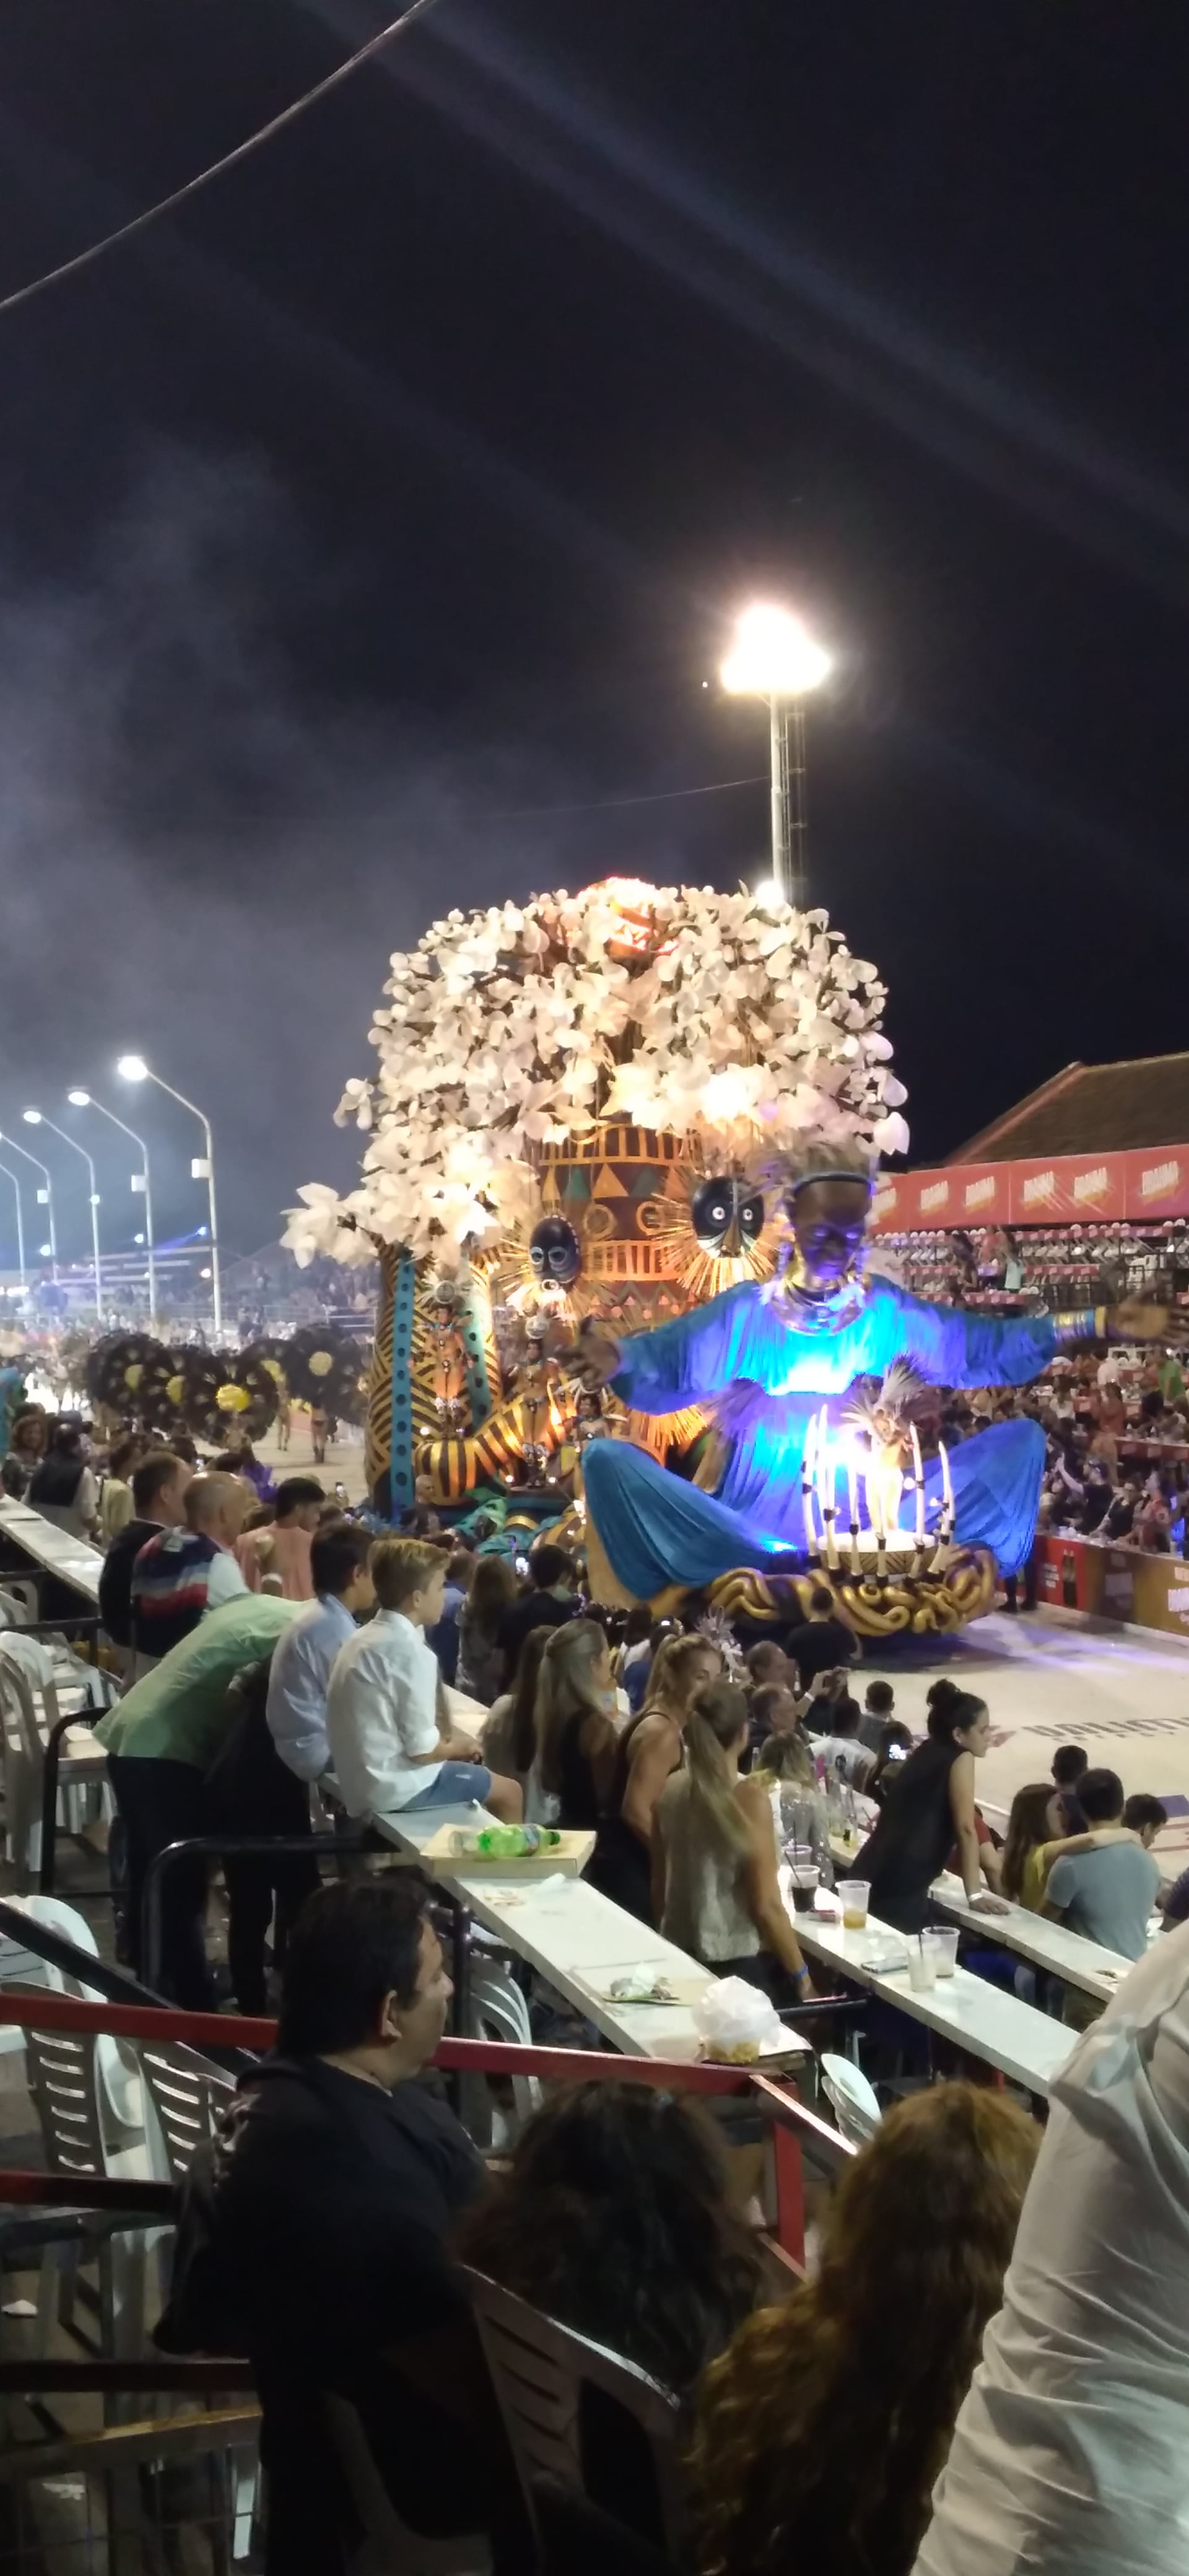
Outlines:
[[914,2576],[1189,2566],[1189,1924],[1050,2102]]

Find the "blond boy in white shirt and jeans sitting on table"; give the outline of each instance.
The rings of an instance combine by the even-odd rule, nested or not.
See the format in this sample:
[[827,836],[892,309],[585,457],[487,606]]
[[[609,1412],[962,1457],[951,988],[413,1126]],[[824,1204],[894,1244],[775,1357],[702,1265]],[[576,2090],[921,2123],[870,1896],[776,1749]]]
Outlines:
[[468,1736],[438,1726],[438,1656],[425,1631],[443,1615],[443,1551],[422,1538],[381,1538],[371,1577],[378,1610],[337,1656],[327,1695],[335,1777],[350,1816],[391,1816],[425,1806],[489,1806],[520,1824],[517,1780],[474,1759]]

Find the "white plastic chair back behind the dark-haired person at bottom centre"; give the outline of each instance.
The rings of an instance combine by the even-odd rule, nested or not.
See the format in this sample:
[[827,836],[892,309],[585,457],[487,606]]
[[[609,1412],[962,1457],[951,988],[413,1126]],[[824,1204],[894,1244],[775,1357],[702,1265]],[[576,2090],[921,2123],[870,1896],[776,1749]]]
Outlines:
[[607,2352],[540,2316],[525,2298],[502,2290],[484,2272],[466,2272],[474,2318],[492,2372],[499,2414],[517,2463],[520,2486],[535,2527],[535,2478],[561,2478],[584,2494],[579,2401],[582,2388],[600,2388],[641,2427],[656,2478],[656,2501],[667,2555],[679,2563],[685,2524],[682,2409],[672,2388],[661,2388],[620,2352]]

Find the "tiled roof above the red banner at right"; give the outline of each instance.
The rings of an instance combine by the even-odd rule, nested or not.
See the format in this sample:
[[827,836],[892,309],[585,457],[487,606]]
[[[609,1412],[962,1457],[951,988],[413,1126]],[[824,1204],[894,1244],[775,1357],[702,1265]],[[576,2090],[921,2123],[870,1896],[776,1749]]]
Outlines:
[[1014,1110],[970,1136],[950,1162],[1011,1162],[1029,1154],[1107,1154],[1189,1144],[1189,1054],[1132,1064],[1065,1064]]

